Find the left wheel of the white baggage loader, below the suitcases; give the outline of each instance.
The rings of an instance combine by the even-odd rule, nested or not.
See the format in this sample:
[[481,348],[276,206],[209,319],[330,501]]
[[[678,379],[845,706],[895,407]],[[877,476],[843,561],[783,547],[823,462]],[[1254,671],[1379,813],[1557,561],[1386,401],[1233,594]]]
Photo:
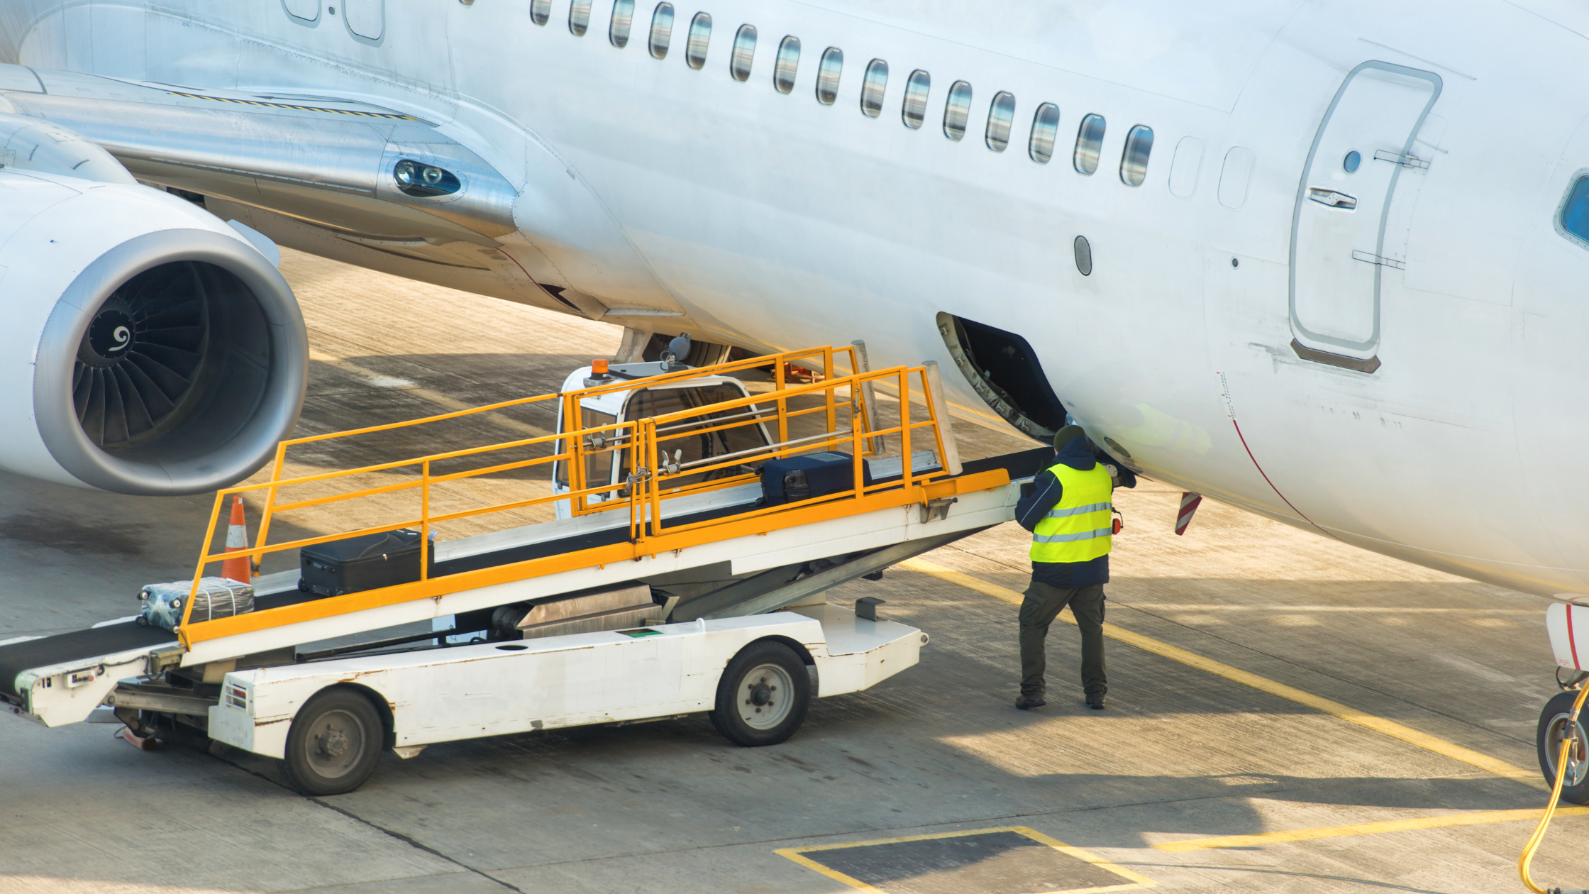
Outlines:
[[307,795],[340,795],[375,772],[386,730],[370,700],[351,689],[327,689],[308,700],[288,730],[283,772]]

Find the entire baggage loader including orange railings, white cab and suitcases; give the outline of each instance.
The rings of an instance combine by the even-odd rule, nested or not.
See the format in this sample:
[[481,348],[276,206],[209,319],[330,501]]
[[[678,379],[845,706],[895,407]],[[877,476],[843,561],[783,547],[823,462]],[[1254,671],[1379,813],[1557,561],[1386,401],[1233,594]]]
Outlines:
[[[788,382],[791,361],[820,374]],[[284,474],[289,450],[324,468],[364,439],[550,407],[545,434]],[[245,552],[299,550],[303,571],[254,579],[253,611],[230,617],[189,600],[175,632],[119,619],[0,644],[0,702],[46,727],[275,757],[310,794],[353,791],[385,749],[701,711],[737,744],[775,744],[812,698],[869,689],[928,641],[877,617],[880,600],[826,590],[1009,520],[1049,455],[961,463],[938,367],[869,371],[853,347],[596,361],[556,395],[281,442],[269,480],[216,495],[192,592]],[[526,477],[545,466],[550,488]],[[262,499],[257,536],[215,552],[240,493]],[[547,504],[553,520],[523,523]],[[272,542],[278,519],[327,533]]]

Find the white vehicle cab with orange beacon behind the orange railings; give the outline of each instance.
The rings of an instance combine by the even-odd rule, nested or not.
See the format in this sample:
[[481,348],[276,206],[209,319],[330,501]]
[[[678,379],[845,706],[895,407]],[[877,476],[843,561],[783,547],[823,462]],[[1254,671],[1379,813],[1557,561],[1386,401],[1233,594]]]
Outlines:
[[[590,388],[597,383],[605,383],[612,379],[628,379],[634,382],[634,388],[628,391],[609,391],[604,395],[596,395],[580,399],[580,418],[566,420],[563,418],[563,407],[558,409],[558,434],[564,431],[580,431],[586,428],[597,428],[604,425],[613,425],[620,422],[629,422],[647,417],[659,417],[691,407],[701,407],[707,404],[717,404],[721,401],[733,401],[737,398],[748,398],[750,391],[739,379],[731,379],[728,375],[702,375],[699,379],[674,380],[666,385],[648,388],[645,380],[653,375],[661,375],[663,372],[677,372],[680,366],[674,363],[671,367],[664,367],[663,363],[613,363],[607,366],[607,375],[610,379],[594,379],[590,366],[575,369],[564,382],[563,391],[577,391],[580,388]],[[756,407],[728,410],[725,414],[712,414],[710,417],[701,417],[699,422],[690,422],[674,426],[672,431],[658,431],[658,455],[666,453],[663,463],[677,463],[682,469],[688,469],[691,463],[702,463],[702,460],[712,460],[717,457],[725,457],[728,453],[742,452],[760,452],[760,449],[772,444],[767,437],[766,426],[756,422]],[[701,433],[702,428],[712,428],[712,422],[718,417],[728,415],[745,415],[742,425],[734,425],[731,428],[723,428],[720,431]],[[721,423],[718,423],[721,425]],[[623,450],[621,439],[613,439],[609,444],[615,447],[605,452],[588,453],[585,458],[585,482],[570,484],[569,482],[569,463],[553,463],[551,466],[551,488],[553,493],[569,493],[569,490],[583,490],[602,485],[617,487],[629,477],[629,453]],[[590,444],[586,447],[591,447]],[[563,452],[561,442],[558,452]],[[755,453],[748,453],[755,455]],[[764,457],[764,453],[761,453]],[[721,469],[706,471],[699,476],[686,476],[675,479],[677,487],[686,487],[702,480],[712,480],[720,477],[731,477],[750,471],[748,466],[726,466]],[[664,495],[666,496],[666,495]],[[618,492],[609,495],[591,495],[591,503],[602,503],[605,499],[618,499]],[[572,507],[567,499],[556,501],[558,519],[572,517]]]

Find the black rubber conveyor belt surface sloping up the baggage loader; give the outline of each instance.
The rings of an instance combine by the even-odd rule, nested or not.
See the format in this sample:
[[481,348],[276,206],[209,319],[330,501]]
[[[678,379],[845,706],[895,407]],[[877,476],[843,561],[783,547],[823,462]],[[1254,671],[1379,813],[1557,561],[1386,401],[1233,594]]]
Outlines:
[[[1020,453],[1004,453],[1001,457],[988,457],[984,460],[971,460],[965,463],[963,474],[985,472],[990,469],[1007,469],[1011,480],[1031,477],[1047,468],[1052,461],[1054,450],[1047,447],[1036,447],[1033,450],[1023,450]],[[898,476],[891,476],[898,480]],[[890,479],[879,479],[876,484],[887,484]],[[704,512],[693,512],[688,515],[677,515],[669,519],[672,525],[686,525],[694,522],[709,522],[712,519],[721,519],[737,512],[744,512],[744,504],[720,506]],[[629,538],[628,523],[617,525],[597,531],[585,531],[566,538],[548,539],[543,542],[532,542],[523,546],[510,546],[505,549],[497,549],[491,552],[481,552],[475,555],[464,555],[459,558],[442,560],[435,563],[434,576],[442,577],[447,574],[458,574],[462,571],[474,571],[478,568],[491,568],[496,565],[507,565],[512,562],[528,562],[531,558],[543,558],[548,555],[559,555],[564,552],[574,552],[582,549],[591,549],[597,546],[610,546],[617,542],[624,542]],[[461,542],[461,541],[459,541]],[[284,590],[278,593],[262,593],[254,600],[254,609],[264,611],[272,608],[281,608],[289,604],[297,604],[308,601],[315,597],[311,593],[303,593],[299,590]],[[0,686],[10,695],[16,692],[16,676],[25,670],[59,665],[75,660],[91,660],[99,655],[108,655],[114,652],[124,652],[129,649],[138,649],[143,646],[156,647],[165,643],[175,643],[175,636],[157,627],[140,627],[137,622],[110,624],[105,627],[92,627],[89,630],[73,630],[70,633],[57,633],[54,636],[44,636],[40,639],[29,639],[24,643],[13,643],[11,646],[0,646]]]

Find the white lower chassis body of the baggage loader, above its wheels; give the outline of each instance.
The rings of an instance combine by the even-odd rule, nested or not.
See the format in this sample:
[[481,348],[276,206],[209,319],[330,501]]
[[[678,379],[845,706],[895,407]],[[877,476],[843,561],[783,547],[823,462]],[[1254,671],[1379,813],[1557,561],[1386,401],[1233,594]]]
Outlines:
[[634,632],[577,633],[439,651],[234,671],[210,708],[210,737],[283,757],[308,698],[354,686],[385,703],[397,754],[415,746],[583,724],[710,711],[718,678],[756,639],[796,644],[817,697],[860,692],[917,663],[926,635],[829,604]]

